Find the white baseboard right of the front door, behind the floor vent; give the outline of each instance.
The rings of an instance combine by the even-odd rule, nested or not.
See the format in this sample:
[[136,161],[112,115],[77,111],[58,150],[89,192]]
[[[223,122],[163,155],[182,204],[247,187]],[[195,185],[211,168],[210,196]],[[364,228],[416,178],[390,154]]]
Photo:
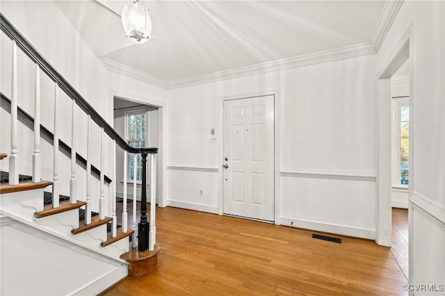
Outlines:
[[280,225],[375,240],[375,230],[280,217]]

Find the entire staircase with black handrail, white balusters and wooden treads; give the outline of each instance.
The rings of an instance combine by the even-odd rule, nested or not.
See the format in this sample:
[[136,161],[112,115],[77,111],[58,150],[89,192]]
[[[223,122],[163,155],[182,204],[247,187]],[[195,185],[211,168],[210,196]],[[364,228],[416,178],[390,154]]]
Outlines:
[[[0,148],[3,150],[6,142],[10,147],[9,156],[0,154],[0,295],[96,295],[124,277],[145,276],[154,271],[159,252],[154,186],[157,148],[130,147],[3,15],[1,31],[12,40],[13,67],[11,98],[3,90],[0,93],[1,124],[10,124],[10,139],[1,135]],[[32,116],[20,108],[17,97],[17,48],[35,63]],[[55,85],[52,131],[51,127],[40,124],[41,72]],[[59,91],[72,101],[69,131],[60,131]],[[88,117],[88,131],[83,139],[78,139],[76,133],[79,113]],[[94,139],[91,130],[97,128],[100,136]],[[71,134],[70,145],[60,139],[66,133]],[[33,146],[18,149],[19,140],[26,137]],[[42,139],[46,141],[44,145]],[[79,141],[86,142],[86,156],[76,151]],[[52,155],[47,153],[48,146]],[[92,165],[92,161],[97,161],[92,158],[92,147],[99,151],[97,167]],[[123,164],[116,161],[117,148],[124,150]],[[106,159],[106,151],[110,150],[113,152]],[[147,190],[142,190],[138,227],[136,203],[133,203],[133,221],[127,218],[126,189],[122,225],[117,224],[115,172],[126,172],[128,154],[142,156],[142,188],[147,188],[149,156],[152,199],[147,215]],[[111,167],[108,169],[111,177],[106,176],[106,164]],[[134,165],[136,171],[136,162]],[[136,188],[136,179],[133,187]]]

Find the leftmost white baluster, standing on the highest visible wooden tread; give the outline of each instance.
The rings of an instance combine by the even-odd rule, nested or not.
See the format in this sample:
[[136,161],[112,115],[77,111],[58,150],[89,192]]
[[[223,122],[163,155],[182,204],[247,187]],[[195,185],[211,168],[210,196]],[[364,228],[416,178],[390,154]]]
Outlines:
[[17,43],[13,40],[13,73],[11,83],[11,156],[9,157],[9,185],[19,183],[17,155]]

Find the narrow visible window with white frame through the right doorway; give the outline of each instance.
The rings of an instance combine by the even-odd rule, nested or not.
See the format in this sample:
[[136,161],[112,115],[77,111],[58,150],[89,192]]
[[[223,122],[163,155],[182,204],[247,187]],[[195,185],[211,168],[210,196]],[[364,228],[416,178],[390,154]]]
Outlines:
[[410,179],[409,98],[394,98],[393,110],[393,186],[407,187]]

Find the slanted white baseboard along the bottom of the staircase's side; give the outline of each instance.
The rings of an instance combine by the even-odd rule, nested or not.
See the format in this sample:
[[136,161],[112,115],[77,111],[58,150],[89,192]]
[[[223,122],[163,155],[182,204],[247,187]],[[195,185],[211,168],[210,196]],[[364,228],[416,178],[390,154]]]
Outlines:
[[128,265],[122,264],[118,268],[111,270],[110,273],[105,274],[103,277],[95,279],[87,286],[84,286],[77,292],[73,293],[73,295],[99,295],[121,279],[124,279],[124,277],[127,277],[127,275]]

